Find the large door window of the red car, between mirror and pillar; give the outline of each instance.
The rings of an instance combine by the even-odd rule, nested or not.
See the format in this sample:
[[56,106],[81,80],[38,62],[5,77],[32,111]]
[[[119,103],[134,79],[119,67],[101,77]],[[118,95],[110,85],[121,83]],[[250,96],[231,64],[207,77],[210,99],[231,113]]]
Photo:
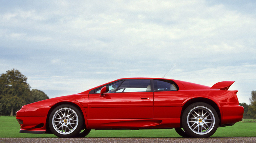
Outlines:
[[117,92],[149,92],[151,91],[150,80],[125,80]]

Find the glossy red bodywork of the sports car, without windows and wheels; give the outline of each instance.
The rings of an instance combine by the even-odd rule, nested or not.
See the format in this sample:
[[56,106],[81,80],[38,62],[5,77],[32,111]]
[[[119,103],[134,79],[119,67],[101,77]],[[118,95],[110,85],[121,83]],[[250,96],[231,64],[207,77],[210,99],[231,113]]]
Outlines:
[[[170,80],[159,78],[125,78],[119,80]],[[186,103],[211,101],[221,115],[220,125],[232,124],[243,118],[244,108],[239,106],[236,93],[227,91],[233,81],[219,82],[212,87],[171,80],[178,91],[94,93],[112,82],[79,94],[52,98],[24,105],[16,119],[22,120],[23,131],[46,131],[49,112],[55,105],[70,103],[81,109],[88,129],[142,129],[176,128],[181,124],[181,112]],[[90,93],[90,94],[89,94]],[[101,96],[100,96],[101,94]],[[102,95],[104,94],[104,96]],[[36,128],[39,127],[39,128]]]

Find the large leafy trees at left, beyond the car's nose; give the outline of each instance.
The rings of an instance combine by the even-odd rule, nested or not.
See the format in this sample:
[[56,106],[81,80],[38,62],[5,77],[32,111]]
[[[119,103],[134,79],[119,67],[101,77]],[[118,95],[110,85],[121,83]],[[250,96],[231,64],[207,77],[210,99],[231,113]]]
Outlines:
[[23,105],[49,99],[38,89],[31,89],[27,77],[12,69],[0,76],[0,115],[16,114]]

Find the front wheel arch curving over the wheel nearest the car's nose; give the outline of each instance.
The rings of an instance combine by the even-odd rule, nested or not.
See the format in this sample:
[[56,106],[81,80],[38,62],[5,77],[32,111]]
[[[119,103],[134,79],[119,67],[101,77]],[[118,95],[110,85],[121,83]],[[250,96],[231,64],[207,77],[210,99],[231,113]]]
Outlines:
[[50,114],[51,114],[51,112],[53,111],[53,109],[55,109],[57,106],[59,106],[59,105],[62,105],[62,104],[70,104],[70,105],[73,105],[73,106],[75,106],[82,114],[83,114],[83,121],[84,121],[84,126],[86,127],[86,122],[85,122],[85,112],[83,112],[82,110],[81,110],[81,107],[80,106],[82,106],[82,105],[77,105],[76,103],[73,103],[73,102],[70,102],[70,101],[61,101],[61,102],[58,102],[58,103],[55,103],[51,108],[50,108],[50,110],[49,110],[49,112],[48,112],[48,114],[47,114],[47,118],[46,118],[46,125],[45,125],[45,127],[46,127],[46,133],[52,133],[51,132],[51,130],[50,130],[50,127],[49,127],[49,123],[48,123],[48,120],[49,120],[49,117],[50,117]]

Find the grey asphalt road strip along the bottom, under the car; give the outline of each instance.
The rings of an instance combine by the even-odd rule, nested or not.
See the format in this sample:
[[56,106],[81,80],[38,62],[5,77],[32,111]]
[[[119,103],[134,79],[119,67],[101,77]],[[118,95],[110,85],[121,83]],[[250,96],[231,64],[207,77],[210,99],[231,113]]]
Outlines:
[[255,143],[256,137],[211,138],[0,138],[0,143]]

